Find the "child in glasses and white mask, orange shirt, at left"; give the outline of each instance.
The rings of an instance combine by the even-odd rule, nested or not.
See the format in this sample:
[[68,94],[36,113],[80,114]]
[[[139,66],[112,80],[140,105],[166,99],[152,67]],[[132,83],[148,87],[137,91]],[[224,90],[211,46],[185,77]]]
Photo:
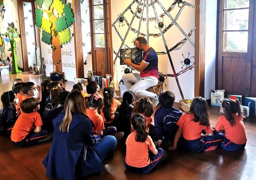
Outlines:
[[[39,100],[39,102],[41,102],[42,93],[41,93],[41,86],[40,85],[37,85],[37,87],[35,87],[35,84],[33,82],[27,82],[27,83],[24,83],[22,85],[21,90],[24,93],[24,96],[22,97],[21,101],[34,97],[35,96],[35,91],[37,90],[38,91],[37,99]],[[20,115],[20,112],[21,112],[21,110],[20,110],[21,101],[19,101],[19,103],[16,106],[18,116]]]

